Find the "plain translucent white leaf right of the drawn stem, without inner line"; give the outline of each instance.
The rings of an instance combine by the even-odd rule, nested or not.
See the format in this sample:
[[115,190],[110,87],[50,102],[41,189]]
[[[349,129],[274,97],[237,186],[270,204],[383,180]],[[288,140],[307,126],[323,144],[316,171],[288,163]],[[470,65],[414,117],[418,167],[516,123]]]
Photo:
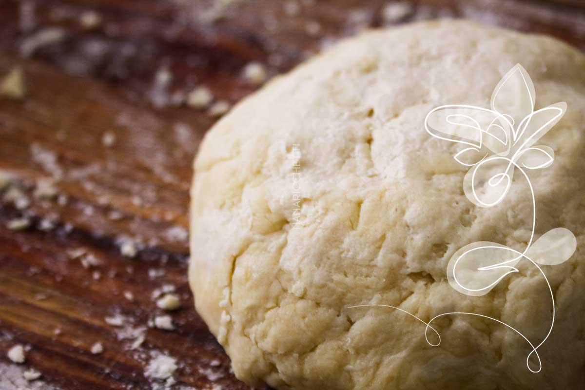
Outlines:
[[565,227],[549,230],[526,251],[526,256],[536,263],[555,265],[569,260],[577,249],[577,239]]

